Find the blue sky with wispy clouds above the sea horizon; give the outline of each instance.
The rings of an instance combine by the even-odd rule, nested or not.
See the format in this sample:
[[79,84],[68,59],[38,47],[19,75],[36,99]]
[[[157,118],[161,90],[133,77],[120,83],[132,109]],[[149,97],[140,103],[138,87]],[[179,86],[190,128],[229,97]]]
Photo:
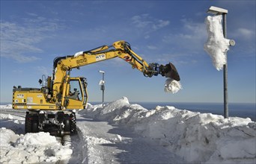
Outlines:
[[40,87],[52,60],[126,40],[147,63],[174,63],[181,89],[164,92],[165,78],[145,78],[121,59],[71,75],[88,78],[89,101],[222,102],[223,72],[204,51],[204,19],[210,6],[228,9],[228,101],[255,103],[255,1],[1,1],[1,102],[13,86]]

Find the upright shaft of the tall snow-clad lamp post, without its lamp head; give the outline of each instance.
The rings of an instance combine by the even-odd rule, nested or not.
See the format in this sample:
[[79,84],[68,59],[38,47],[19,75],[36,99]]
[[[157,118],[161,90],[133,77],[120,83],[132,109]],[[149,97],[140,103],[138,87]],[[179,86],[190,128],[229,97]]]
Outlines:
[[[227,38],[227,13],[222,13],[223,18],[223,35]],[[228,52],[226,52],[227,63],[223,66],[223,83],[224,83],[224,118],[228,119]]]

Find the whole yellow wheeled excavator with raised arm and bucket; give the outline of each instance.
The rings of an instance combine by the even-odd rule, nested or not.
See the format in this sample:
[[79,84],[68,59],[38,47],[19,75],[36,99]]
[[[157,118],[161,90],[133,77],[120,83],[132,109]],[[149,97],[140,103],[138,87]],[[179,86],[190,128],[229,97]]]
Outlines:
[[88,92],[86,78],[70,77],[72,69],[120,57],[146,77],[157,75],[180,81],[172,63],[165,66],[148,64],[132,51],[128,42],[118,41],[90,51],[80,51],[71,56],[56,57],[52,76],[39,83],[41,88],[13,86],[13,109],[28,110],[25,116],[25,133],[49,132],[55,136],[76,133],[76,110],[85,109]]

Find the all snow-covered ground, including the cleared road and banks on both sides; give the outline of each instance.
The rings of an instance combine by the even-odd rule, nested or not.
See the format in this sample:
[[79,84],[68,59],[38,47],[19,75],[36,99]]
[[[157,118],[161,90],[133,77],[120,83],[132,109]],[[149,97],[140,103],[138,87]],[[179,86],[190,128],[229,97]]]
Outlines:
[[147,110],[124,97],[80,110],[79,134],[61,145],[49,133],[24,135],[24,115],[1,110],[0,163],[256,163],[251,119]]

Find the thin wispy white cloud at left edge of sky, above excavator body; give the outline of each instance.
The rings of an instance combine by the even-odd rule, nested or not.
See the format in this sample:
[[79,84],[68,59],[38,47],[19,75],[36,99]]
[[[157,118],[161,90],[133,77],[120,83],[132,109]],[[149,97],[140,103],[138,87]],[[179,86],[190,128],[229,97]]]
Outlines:
[[43,50],[37,43],[49,37],[49,32],[58,28],[56,20],[46,20],[43,17],[20,19],[21,23],[0,22],[1,25],[1,57],[11,58],[19,63],[40,60],[29,53],[41,53]]

